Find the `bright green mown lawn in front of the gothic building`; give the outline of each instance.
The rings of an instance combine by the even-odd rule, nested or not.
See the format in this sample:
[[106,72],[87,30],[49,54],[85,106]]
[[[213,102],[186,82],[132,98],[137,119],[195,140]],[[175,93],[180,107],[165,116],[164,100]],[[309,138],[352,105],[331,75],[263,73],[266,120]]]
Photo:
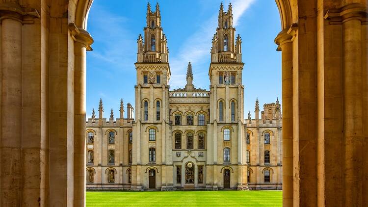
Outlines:
[[281,207],[282,191],[87,192],[87,207]]

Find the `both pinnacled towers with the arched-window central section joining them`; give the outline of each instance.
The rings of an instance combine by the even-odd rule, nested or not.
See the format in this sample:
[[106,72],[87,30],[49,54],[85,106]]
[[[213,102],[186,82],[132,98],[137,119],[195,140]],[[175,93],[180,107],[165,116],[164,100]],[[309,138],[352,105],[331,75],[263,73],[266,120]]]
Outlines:
[[159,5],[147,5],[137,40],[131,189],[247,188],[241,39],[232,5],[220,5],[210,50],[210,91],[187,84],[169,88],[167,38]]

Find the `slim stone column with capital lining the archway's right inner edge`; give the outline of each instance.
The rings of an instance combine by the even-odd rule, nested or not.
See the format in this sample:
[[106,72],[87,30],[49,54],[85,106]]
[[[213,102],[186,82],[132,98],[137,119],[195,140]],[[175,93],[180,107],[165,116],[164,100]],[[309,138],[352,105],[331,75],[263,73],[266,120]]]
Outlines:
[[282,55],[282,101],[283,101],[283,206],[293,203],[293,150],[292,150],[292,43],[287,31],[281,31],[275,43]]

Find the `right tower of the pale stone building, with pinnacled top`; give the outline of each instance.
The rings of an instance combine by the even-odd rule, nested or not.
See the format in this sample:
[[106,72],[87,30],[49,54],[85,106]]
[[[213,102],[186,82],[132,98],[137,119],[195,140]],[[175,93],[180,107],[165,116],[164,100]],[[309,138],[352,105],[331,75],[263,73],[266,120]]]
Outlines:
[[[238,189],[247,187],[243,176],[247,172],[243,163],[245,142],[242,85],[243,63],[241,62],[240,36],[235,38],[233,27],[232,5],[224,11],[220,5],[218,27],[212,40],[210,63],[210,125],[208,139],[209,156],[207,165],[213,165],[213,175],[221,172],[225,165],[235,165],[235,173],[231,173],[231,183],[237,183]],[[212,134],[210,134],[212,133]],[[211,139],[210,139],[211,137]],[[226,158],[225,158],[226,155]],[[222,171],[222,173],[227,173]],[[207,175],[210,175],[208,173]],[[219,175],[218,177],[221,177]],[[210,181],[213,177],[207,177]],[[213,181],[212,188],[217,188],[221,181]],[[208,186],[210,187],[210,186]]]

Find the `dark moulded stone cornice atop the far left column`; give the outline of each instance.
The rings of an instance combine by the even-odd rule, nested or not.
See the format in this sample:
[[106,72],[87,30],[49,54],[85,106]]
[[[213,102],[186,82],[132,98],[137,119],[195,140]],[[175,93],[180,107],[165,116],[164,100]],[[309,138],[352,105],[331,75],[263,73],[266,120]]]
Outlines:
[[1,3],[0,4],[0,21],[4,19],[12,19],[22,24],[33,24],[32,19],[39,19],[41,16],[34,8],[26,11],[17,3]]

